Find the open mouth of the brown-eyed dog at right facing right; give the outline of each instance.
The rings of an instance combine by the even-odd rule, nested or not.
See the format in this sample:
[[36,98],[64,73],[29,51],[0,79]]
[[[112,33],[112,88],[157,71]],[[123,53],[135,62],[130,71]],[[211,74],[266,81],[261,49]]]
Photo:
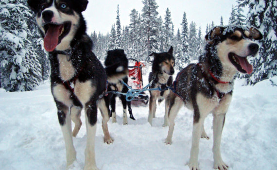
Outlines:
[[253,71],[253,67],[247,61],[246,57],[241,57],[233,52],[228,54],[231,63],[242,73],[250,74]]

